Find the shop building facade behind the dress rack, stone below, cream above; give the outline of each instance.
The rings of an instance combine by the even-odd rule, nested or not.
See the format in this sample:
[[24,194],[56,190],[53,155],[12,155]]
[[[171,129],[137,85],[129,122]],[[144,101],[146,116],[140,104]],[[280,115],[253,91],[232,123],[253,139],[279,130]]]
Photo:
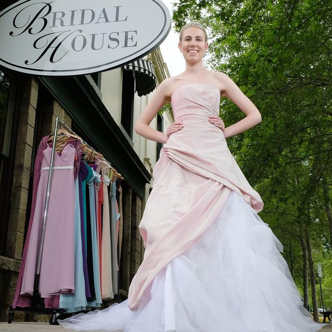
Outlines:
[[[138,225],[162,147],[139,136],[133,128],[154,87],[167,77],[168,68],[159,48],[131,65],[92,75],[37,77],[0,67],[1,321],[7,320],[16,289],[30,218],[36,151],[41,138],[53,133],[56,117],[124,177],[120,293],[113,301],[126,298],[143,260]],[[172,111],[166,107],[150,126],[165,131],[173,121]],[[42,318],[23,312],[15,313],[14,318],[36,319]]]

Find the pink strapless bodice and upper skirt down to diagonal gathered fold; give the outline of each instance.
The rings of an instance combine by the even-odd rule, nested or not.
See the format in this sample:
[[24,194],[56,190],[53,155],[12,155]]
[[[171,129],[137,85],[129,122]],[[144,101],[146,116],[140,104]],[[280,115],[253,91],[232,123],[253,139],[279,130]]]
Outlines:
[[[215,85],[189,83],[177,88],[172,95],[172,107],[174,120],[182,121],[183,128],[173,133],[161,150],[192,171],[238,192],[260,211],[262,199],[230,153],[222,130],[208,121],[209,115],[219,115],[219,102],[220,91]],[[160,168],[155,165],[154,176]]]

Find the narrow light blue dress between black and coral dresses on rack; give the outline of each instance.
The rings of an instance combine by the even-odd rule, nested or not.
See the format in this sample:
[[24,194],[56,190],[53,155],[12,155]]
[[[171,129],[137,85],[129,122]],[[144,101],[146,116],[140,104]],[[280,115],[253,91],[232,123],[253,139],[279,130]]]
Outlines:
[[91,222],[91,243],[92,243],[92,261],[93,261],[93,279],[94,290],[96,292],[96,301],[89,302],[90,306],[100,307],[102,303],[102,294],[100,287],[100,272],[99,272],[99,249],[97,241],[97,220],[96,220],[96,192],[94,191],[94,184],[102,182],[100,175],[91,168],[93,175],[88,180],[89,186],[89,201],[90,201],[90,222]]

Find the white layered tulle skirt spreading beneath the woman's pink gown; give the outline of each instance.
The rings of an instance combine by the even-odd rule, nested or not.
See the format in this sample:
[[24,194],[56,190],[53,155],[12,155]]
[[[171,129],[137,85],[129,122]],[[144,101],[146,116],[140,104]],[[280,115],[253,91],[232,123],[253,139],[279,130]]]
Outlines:
[[312,332],[282,245],[231,192],[215,223],[154,278],[139,308],[128,300],[59,323],[126,332]]

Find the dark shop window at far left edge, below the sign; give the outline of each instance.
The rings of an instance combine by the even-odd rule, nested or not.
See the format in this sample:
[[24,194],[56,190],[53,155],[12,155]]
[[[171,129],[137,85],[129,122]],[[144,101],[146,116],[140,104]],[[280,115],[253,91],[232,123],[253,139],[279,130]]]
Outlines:
[[9,220],[9,204],[14,164],[13,133],[15,79],[0,68],[0,255],[4,254]]

